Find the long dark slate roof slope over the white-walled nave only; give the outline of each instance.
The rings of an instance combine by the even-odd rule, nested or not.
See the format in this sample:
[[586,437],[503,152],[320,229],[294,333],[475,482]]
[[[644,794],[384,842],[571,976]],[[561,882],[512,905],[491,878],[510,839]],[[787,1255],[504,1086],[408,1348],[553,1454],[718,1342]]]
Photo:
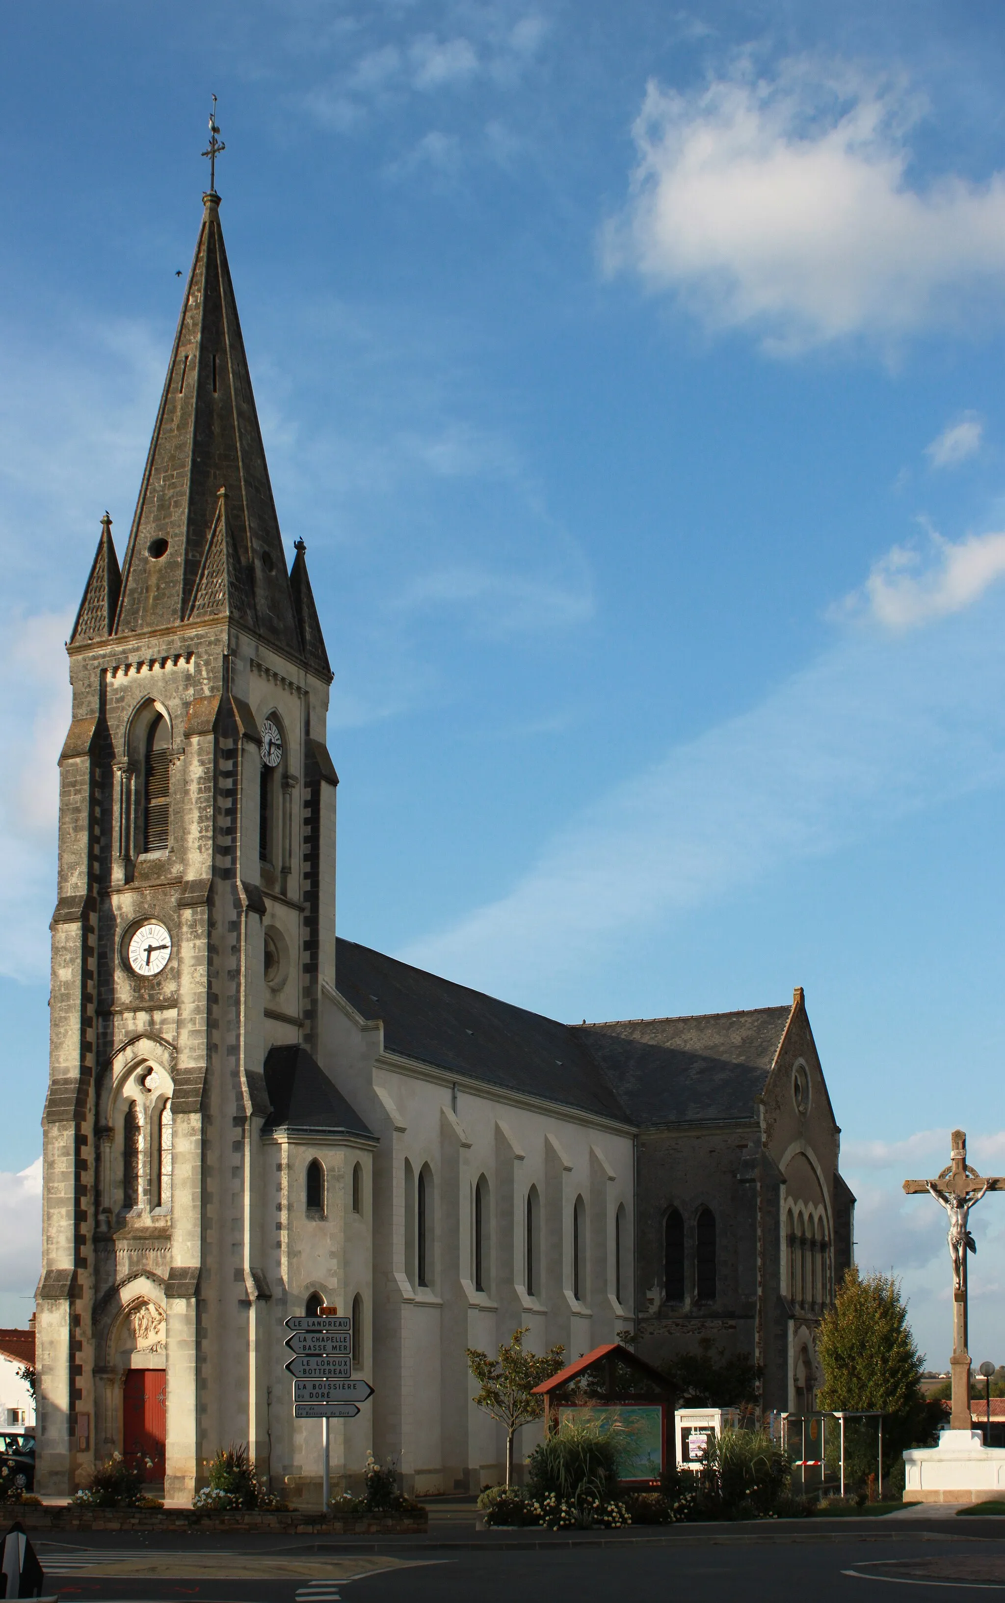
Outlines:
[[335,943],[335,984],[385,1048],[447,1074],[627,1124],[625,1111],[567,1024],[439,979],[369,946]]

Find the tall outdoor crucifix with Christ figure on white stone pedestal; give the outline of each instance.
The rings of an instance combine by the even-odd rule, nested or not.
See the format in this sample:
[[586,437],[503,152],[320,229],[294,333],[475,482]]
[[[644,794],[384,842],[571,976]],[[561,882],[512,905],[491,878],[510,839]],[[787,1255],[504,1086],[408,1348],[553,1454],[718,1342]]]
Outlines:
[[934,1180],[906,1180],[909,1194],[926,1191],[946,1209],[952,1258],[952,1412],[938,1448],[904,1454],[904,1502],[984,1502],[1005,1494],[1005,1449],[986,1448],[970,1414],[970,1353],[967,1329],[967,1254],[976,1252],[970,1209],[989,1191],[1005,1191],[1005,1177],[984,1177],[967,1162],[967,1135],[952,1132],[952,1157]]

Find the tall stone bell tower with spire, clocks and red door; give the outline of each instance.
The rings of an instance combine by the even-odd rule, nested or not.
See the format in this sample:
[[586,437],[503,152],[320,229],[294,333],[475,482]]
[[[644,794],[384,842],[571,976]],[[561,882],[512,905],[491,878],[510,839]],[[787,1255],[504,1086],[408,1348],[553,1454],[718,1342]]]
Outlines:
[[[335,965],[330,670],[287,571],[231,285],[204,218],[122,571],[69,641],[59,758],[38,1489],[112,1452],[191,1494],[263,1464],[271,1047],[321,1052]],[[271,1218],[269,1218],[271,1213]]]

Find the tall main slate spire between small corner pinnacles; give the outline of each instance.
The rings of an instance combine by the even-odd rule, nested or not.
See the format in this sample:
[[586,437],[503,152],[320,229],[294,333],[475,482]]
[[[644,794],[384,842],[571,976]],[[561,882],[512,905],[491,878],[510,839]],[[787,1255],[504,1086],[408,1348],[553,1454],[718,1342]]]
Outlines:
[[170,627],[210,604],[207,556],[220,532],[218,491],[226,486],[224,611],[240,606],[245,627],[301,657],[220,196],[202,199],[202,228],[123,561],[115,633]]

